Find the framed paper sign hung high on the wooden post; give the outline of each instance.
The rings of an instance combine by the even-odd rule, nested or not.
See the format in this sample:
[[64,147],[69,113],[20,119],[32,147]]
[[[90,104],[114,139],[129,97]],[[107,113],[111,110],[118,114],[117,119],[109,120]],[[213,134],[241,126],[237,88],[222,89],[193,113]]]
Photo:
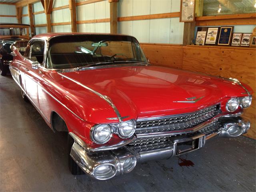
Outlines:
[[195,21],[195,0],[180,0],[180,22]]

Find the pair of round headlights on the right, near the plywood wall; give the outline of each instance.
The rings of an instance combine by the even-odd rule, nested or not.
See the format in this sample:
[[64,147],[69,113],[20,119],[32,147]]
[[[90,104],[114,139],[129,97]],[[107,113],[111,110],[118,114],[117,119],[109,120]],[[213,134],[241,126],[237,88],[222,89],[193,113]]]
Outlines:
[[229,112],[234,112],[240,106],[241,108],[248,108],[252,104],[252,96],[231,98],[226,103],[226,110]]

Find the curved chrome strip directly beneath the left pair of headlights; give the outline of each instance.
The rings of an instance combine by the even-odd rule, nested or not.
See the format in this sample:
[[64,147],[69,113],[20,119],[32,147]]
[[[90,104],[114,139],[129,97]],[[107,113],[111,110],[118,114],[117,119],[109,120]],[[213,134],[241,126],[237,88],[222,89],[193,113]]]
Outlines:
[[97,151],[107,151],[107,150],[114,150],[114,149],[118,149],[122,146],[125,146],[127,144],[129,144],[130,142],[132,142],[136,137],[131,138],[130,140],[123,140],[121,142],[119,142],[118,144],[112,145],[112,146],[102,146],[102,147],[98,147],[98,148],[90,148],[88,147],[88,145],[82,140],[80,139],[76,134],[74,134],[73,132],[69,133],[70,136],[72,136],[72,138],[74,139],[74,141],[80,146],[82,147],[84,150],[86,151],[91,151],[91,152],[97,152]]

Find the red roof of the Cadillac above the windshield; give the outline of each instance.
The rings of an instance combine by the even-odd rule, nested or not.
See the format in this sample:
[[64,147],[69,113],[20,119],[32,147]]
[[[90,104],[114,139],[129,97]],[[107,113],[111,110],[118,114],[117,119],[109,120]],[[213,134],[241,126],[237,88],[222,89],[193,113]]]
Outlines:
[[38,34],[36,36],[33,36],[34,38],[40,38],[44,40],[49,40],[50,38],[56,37],[56,36],[66,36],[66,35],[118,35],[118,36],[129,36],[129,35],[122,35],[122,34],[110,34],[110,33],[81,33],[81,32],[70,32],[70,33],[44,33],[44,34]]

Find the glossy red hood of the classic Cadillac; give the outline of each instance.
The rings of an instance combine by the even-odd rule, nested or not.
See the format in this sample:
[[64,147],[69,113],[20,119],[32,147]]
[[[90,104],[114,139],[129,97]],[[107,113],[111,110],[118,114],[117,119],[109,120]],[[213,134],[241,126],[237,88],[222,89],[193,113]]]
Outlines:
[[[199,109],[245,92],[241,86],[222,78],[160,66],[113,67],[63,75],[75,80],[77,86],[84,85],[108,96],[121,116],[134,118]],[[199,100],[186,102],[192,98]]]

